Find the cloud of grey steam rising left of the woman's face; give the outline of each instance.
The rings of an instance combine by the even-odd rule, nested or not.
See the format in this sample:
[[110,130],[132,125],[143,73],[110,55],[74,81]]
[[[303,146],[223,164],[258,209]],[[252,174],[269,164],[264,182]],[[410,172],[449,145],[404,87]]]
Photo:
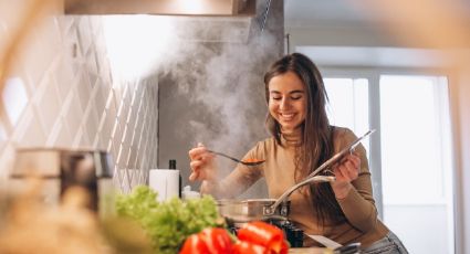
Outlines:
[[262,75],[267,56],[278,51],[270,34],[261,35],[248,44],[222,43],[217,51],[199,45],[192,49],[194,68],[173,68],[179,92],[190,94],[192,103],[202,104],[205,115],[212,116],[209,121],[190,121],[192,144],[206,140],[215,149],[239,152],[231,149],[253,145],[250,125],[258,123],[257,128],[263,129],[264,114],[255,114],[265,112]]

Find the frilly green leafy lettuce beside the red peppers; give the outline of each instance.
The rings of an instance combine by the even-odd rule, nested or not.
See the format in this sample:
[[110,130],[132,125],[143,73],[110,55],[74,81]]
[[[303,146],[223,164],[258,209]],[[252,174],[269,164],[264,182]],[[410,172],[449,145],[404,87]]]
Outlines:
[[137,221],[152,239],[156,253],[177,253],[190,234],[224,226],[210,195],[187,201],[173,198],[166,202],[156,198],[157,193],[147,186],[138,186],[130,194],[116,198],[117,214]]

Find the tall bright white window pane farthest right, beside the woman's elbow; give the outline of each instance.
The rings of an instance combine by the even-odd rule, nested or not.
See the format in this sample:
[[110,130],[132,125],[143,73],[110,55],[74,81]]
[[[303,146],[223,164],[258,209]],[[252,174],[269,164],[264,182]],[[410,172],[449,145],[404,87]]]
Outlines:
[[380,76],[384,219],[411,253],[453,253],[447,98],[445,77]]

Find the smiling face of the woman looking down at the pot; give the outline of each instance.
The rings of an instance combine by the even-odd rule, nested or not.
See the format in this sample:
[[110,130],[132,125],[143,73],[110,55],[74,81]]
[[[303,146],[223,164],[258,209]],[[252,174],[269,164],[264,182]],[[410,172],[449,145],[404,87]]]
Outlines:
[[292,133],[301,126],[306,115],[305,86],[293,72],[271,78],[269,87],[269,112],[281,125],[283,133]]

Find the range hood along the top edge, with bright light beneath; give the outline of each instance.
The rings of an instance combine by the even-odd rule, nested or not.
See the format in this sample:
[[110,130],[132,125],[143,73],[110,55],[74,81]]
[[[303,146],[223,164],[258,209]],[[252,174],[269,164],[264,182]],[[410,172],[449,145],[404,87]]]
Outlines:
[[255,0],[64,0],[65,14],[252,17]]

